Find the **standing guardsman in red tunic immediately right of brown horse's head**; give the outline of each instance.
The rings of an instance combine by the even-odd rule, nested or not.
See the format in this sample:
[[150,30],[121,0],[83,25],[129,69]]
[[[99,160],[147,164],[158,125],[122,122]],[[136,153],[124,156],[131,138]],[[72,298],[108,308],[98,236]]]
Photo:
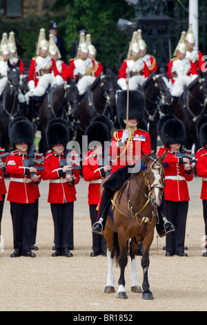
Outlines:
[[[166,116],[166,115],[165,115]],[[164,116],[164,119],[165,119]],[[186,234],[186,219],[188,214],[188,185],[187,182],[193,180],[193,171],[190,160],[182,157],[179,150],[186,142],[184,124],[172,115],[172,118],[164,122],[161,118],[160,137],[164,146],[158,151],[157,156],[161,156],[168,150],[164,159],[164,196],[166,202],[166,217],[175,225],[175,232],[166,236],[166,256],[174,254],[186,257],[184,252],[184,241]],[[159,128],[159,126],[158,126]]]

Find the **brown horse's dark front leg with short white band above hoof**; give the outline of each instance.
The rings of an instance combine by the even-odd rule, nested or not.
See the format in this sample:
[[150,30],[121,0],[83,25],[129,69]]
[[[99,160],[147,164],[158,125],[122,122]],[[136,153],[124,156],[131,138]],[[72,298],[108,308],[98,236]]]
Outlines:
[[117,298],[127,299],[128,296],[126,295],[126,289],[125,289],[125,279],[124,279],[124,272],[125,268],[128,262],[128,256],[127,256],[127,249],[126,249],[126,243],[127,240],[123,236],[118,236],[119,238],[119,250],[120,250],[120,256],[119,256],[119,267],[120,267],[120,277],[119,277],[119,288],[117,290]]

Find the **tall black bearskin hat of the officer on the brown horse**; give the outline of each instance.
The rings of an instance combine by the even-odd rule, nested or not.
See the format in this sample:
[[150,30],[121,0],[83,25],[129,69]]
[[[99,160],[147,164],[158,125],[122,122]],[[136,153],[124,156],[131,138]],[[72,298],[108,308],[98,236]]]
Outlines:
[[[126,106],[127,106],[127,91],[120,91],[117,97],[117,118],[120,126],[125,127],[124,120],[126,120]],[[128,92],[128,118],[137,118],[137,126],[144,117],[145,100],[141,91]]]

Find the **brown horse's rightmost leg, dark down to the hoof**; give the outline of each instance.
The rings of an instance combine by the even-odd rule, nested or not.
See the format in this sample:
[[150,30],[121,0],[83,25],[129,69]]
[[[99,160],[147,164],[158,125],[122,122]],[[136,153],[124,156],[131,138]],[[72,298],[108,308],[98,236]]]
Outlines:
[[148,268],[150,265],[149,251],[150,251],[150,246],[144,248],[143,245],[143,257],[141,258],[141,267],[144,273],[144,279],[142,283],[142,288],[143,288],[142,299],[152,300],[154,299],[154,297],[150,291],[150,285],[148,282]]

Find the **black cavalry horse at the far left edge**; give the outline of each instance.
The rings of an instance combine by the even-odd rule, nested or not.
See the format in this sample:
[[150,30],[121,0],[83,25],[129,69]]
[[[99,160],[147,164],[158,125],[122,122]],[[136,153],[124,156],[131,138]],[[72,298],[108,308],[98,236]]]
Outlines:
[[9,146],[8,124],[21,115],[18,101],[19,73],[19,64],[13,65],[8,61],[8,82],[0,97],[0,146],[6,151]]

